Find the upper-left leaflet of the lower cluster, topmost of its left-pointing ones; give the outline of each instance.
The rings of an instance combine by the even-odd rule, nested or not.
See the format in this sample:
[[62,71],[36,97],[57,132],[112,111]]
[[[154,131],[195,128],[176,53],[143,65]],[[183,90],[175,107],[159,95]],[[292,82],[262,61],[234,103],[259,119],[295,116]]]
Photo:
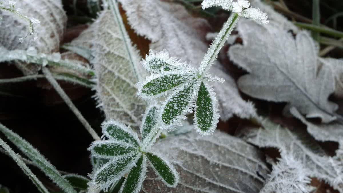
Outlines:
[[137,133],[124,124],[111,120],[104,122],[101,126],[103,128],[103,134],[106,137],[118,141],[122,140],[128,144],[139,147],[140,142]]

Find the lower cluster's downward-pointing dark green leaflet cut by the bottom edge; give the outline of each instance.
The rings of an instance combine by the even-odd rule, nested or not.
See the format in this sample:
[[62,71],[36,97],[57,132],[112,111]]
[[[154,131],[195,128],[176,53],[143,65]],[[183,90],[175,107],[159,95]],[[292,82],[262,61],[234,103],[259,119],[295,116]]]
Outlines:
[[128,177],[124,181],[121,193],[139,192],[144,180],[146,172],[146,158],[142,155],[136,163],[136,166],[132,168]]

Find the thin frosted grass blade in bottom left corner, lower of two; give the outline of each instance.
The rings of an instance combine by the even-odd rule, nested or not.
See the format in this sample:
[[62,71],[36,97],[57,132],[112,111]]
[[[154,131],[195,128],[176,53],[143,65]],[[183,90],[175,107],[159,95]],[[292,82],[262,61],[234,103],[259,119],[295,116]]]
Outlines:
[[[4,127],[0,124],[0,128]],[[39,192],[48,193],[49,191],[45,188],[41,181],[32,173],[32,171],[26,166],[23,160],[20,159],[19,155],[16,154],[9,145],[5,143],[0,138],[0,145],[3,147],[6,152],[11,156],[11,158],[18,164],[18,166],[23,170],[23,172],[30,178],[30,180],[37,186]]]

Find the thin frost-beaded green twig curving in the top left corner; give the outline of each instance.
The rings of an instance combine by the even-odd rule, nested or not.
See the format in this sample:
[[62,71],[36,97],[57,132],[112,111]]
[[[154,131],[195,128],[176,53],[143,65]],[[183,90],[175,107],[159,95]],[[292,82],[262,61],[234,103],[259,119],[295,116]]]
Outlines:
[[[1,1],[0,4],[3,4],[3,2]],[[19,38],[19,41],[24,42],[25,38],[28,37],[29,35],[34,35],[34,39],[37,39],[38,37],[34,31],[34,24],[39,24],[40,21],[37,19],[34,19],[34,18],[28,18],[26,15],[21,14],[21,9],[15,8],[15,4],[16,4],[15,1],[9,0],[8,4],[9,4],[9,7],[0,6],[0,9],[12,12],[12,13],[18,15],[20,18],[28,21],[28,23],[29,23],[28,34],[26,34],[24,37]]]

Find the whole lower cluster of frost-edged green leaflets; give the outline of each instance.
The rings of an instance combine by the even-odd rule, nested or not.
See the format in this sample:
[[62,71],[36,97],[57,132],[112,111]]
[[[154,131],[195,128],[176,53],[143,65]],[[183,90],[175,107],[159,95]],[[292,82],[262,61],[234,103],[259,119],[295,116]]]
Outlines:
[[151,106],[144,114],[141,125],[142,141],[131,128],[119,122],[108,121],[102,124],[103,140],[94,141],[88,150],[93,158],[108,161],[95,167],[89,175],[91,181],[87,183],[88,192],[95,193],[101,189],[107,191],[112,184],[125,176],[119,192],[138,193],[146,177],[147,160],[165,185],[177,185],[179,177],[174,167],[151,149],[161,134],[156,124],[157,109],[157,106]]

